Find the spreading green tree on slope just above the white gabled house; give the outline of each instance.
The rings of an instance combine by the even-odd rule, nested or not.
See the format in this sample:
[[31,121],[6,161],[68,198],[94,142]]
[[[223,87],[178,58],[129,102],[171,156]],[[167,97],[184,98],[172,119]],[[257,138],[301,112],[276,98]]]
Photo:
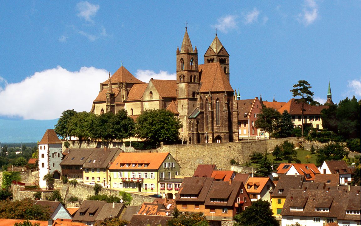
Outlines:
[[348,151],[339,143],[331,143],[317,150],[316,162],[321,165],[327,160],[341,160],[348,156]]

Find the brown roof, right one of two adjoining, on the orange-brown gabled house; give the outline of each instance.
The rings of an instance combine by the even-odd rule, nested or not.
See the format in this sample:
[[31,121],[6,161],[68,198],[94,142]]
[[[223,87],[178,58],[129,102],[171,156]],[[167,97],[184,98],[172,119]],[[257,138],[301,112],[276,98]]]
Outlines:
[[[240,181],[233,181],[232,183],[228,181],[213,181],[204,205],[232,206],[235,203],[241,186],[242,182]],[[210,199],[226,199],[227,202],[211,202]]]

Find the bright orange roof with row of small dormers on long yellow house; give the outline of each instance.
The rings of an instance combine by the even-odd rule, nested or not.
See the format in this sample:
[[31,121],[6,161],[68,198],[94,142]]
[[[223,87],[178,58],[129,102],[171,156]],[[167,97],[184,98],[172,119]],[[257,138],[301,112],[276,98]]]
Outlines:
[[[109,167],[109,170],[123,169],[123,170],[157,170],[161,167],[169,152],[164,153],[119,153],[116,160]],[[135,163],[135,167],[132,167]],[[126,167],[129,164],[129,167]],[[139,167],[138,164],[141,164]],[[144,165],[147,164],[147,167]]]

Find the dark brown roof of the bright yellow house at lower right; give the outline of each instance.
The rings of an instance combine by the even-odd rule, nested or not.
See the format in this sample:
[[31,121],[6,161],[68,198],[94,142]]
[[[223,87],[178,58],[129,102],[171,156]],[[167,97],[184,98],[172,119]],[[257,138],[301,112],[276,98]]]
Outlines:
[[[272,197],[286,197],[290,189],[301,189],[304,178],[304,175],[280,175]],[[283,189],[282,193],[279,193],[280,189]]]

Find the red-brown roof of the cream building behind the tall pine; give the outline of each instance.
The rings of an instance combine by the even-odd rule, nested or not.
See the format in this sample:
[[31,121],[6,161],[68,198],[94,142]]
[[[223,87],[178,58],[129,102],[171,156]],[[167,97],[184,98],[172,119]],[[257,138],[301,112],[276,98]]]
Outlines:
[[[265,103],[265,102],[263,102]],[[282,114],[284,110],[288,111],[290,115],[302,115],[302,103],[297,103],[296,99],[292,98],[288,101],[285,105],[279,108],[279,112]],[[321,111],[327,106],[312,106],[307,103],[304,104],[303,108],[305,111],[303,112],[304,115],[320,115]]]

